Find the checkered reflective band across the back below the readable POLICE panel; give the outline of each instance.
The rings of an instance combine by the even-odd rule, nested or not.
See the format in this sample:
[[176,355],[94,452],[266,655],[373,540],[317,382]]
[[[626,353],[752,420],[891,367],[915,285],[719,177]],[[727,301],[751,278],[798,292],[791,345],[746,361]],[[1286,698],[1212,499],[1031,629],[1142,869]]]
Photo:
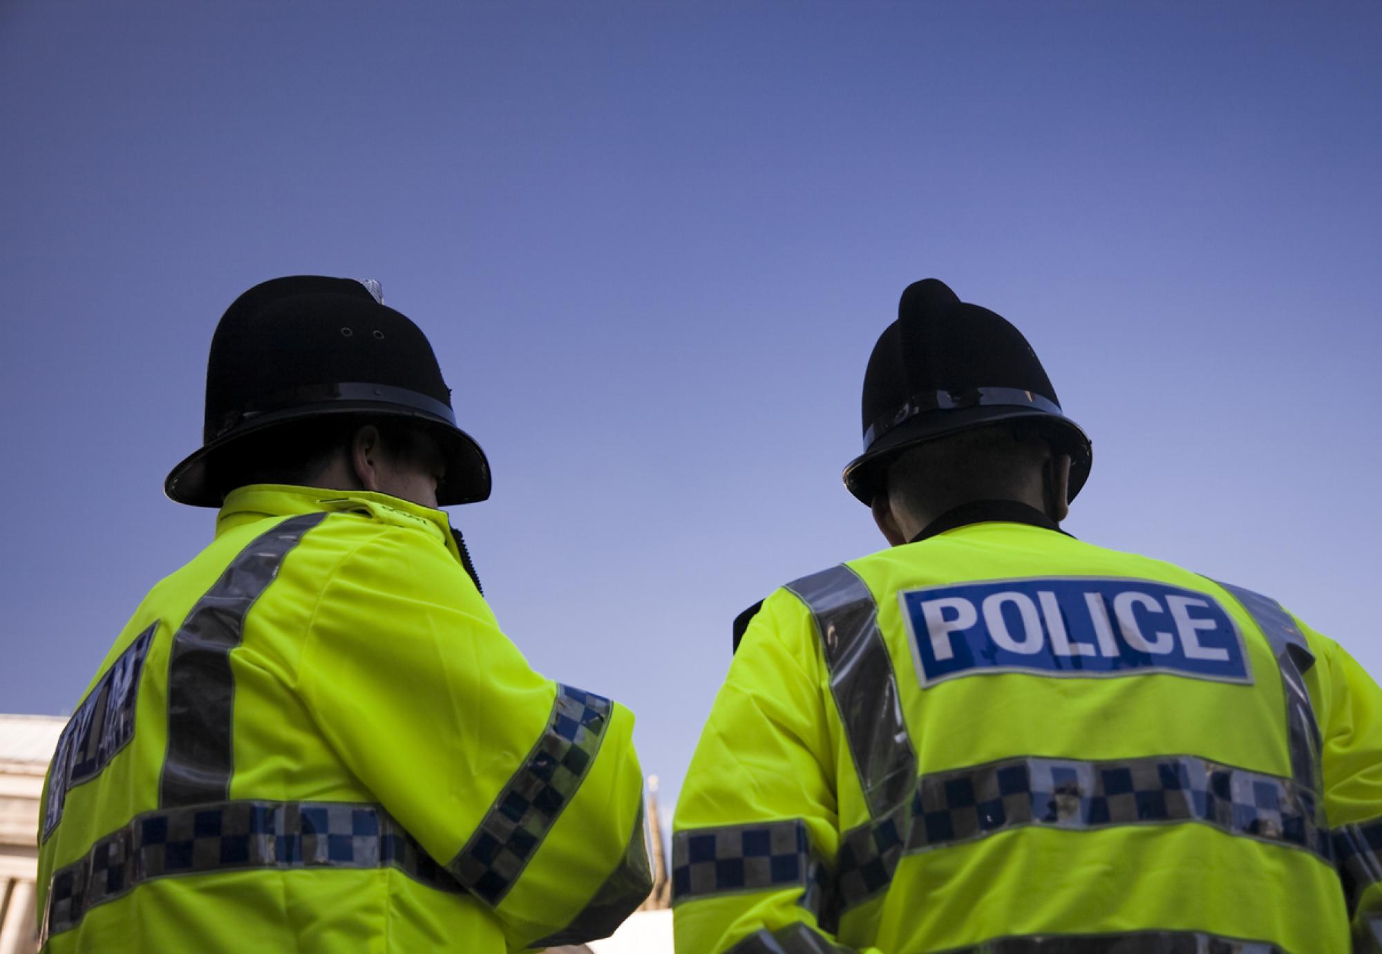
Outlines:
[[1291,778],[1193,755],[1118,762],[1016,758],[922,776],[912,799],[844,832],[835,885],[843,908],[884,890],[904,854],[998,831],[1089,831],[1193,821],[1332,860],[1314,795]]

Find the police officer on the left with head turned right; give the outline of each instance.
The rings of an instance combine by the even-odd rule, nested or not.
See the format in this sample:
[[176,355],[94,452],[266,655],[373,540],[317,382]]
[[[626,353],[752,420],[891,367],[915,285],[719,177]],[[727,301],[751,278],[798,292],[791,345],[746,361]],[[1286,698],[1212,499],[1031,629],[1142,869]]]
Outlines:
[[431,346],[377,285],[258,285],[167,478],[216,539],[62,733],[44,951],[510,951],[651,888],[633,715],[533,672],[439,505],[489,496]]

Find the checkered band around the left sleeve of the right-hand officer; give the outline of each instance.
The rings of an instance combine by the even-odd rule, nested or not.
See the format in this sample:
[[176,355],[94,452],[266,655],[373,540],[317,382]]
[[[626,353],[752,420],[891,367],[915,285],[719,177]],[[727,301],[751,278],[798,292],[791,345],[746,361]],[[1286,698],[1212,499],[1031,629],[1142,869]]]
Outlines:
[[829,871],[811,848],[800,819],[716,828],[687,828],[672,835],[672,904],[756,890],[800,888],[797,904],[818,922]]

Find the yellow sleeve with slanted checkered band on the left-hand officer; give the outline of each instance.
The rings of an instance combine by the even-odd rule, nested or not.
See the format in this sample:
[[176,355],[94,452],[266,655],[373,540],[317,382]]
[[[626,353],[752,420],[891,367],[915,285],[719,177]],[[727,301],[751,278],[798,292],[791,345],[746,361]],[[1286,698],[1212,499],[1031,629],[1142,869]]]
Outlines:
[[341,563],[299,691],[511,947],[608,936],[647,897],[633,715],[533,672],[435,541],[386,528]]

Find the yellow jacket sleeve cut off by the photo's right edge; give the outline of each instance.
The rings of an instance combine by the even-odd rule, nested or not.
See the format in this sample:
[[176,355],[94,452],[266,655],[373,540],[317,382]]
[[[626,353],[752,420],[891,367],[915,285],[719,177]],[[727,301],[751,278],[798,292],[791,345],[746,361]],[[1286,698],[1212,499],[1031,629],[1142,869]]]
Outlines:
[[1342,647],[1325,647],[1320,684],[1324,807],[1334,830],[1356,951],[1382,951],[1382,690]]

